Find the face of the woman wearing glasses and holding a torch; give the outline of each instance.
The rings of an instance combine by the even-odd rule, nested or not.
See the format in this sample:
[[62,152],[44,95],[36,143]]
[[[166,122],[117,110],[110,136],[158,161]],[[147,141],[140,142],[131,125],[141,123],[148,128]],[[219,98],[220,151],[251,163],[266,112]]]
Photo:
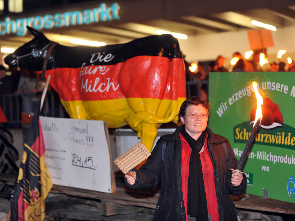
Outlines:
[[[188,116],[191,114],[194,114],[195,117]],[[202,115],[203,117],[201,117]],[[207,109],[201,104],[191,105],[187,108],[185,117],[180,117],[180,119],[186,132],[196,140],[207,127]]]

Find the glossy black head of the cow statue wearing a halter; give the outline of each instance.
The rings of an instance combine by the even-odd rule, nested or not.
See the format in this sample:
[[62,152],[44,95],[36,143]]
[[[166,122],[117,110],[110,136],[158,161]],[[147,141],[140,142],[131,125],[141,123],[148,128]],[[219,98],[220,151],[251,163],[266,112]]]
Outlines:
[[7,55],[4,62],[10,67],[40,71],[51,41],[43,33],[28,26],[27,29],[35,37],[15,50],[14,53]]

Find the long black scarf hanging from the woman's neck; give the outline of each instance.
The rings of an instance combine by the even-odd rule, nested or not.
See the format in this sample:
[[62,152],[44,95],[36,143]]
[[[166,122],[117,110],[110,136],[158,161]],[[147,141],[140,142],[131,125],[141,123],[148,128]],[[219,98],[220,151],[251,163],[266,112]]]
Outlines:
[[201,158],[199,151],[202,149],[207,132],[203,131],[197,140],[192,138],[183,125],[181,134],[191,147],[189,160],[189,181],[187,191],[187,214],[196,217],[196,221],[208,220],[207,200],[204,186]]

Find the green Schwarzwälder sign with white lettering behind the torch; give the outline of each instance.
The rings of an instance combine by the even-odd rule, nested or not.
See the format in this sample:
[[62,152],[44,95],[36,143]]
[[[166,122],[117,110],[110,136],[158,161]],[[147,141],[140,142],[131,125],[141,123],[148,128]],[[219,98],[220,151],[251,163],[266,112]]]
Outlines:
[[240,159],[255,120],[256,96],[263,97],[260,128],[243,167],[247,193],[295,203],[295,73],[209,74],[209,127],[226,137]]

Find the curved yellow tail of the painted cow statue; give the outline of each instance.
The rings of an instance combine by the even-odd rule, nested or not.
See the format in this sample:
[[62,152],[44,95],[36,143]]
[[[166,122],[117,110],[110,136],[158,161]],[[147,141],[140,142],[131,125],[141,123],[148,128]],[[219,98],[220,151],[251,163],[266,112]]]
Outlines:
[[163,124],[172,121],[178,114],[178,101],[172,100],[171,113],[166,118],[161,118],[150,112],[138,112],[133,119],[133,126],[137,127],[140,123]]

